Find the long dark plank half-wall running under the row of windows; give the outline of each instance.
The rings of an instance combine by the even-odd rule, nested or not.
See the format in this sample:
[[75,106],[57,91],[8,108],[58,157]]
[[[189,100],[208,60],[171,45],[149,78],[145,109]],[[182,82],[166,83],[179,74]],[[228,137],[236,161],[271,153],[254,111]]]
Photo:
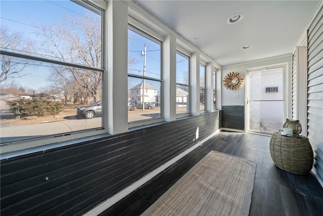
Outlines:
[[1,215],[80,215],[217,129],[213,112],[3,159]]

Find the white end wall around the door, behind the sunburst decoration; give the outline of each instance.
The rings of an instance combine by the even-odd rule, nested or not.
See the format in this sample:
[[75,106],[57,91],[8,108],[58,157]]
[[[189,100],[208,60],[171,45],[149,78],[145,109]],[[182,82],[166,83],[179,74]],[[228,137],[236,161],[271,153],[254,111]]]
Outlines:
[[[221,85],[222,86],[222,106],[245,105],[245,100],[246,100],[246,96],[245,96],[246,80],[245,80],[245,77],[246,77],[246,70],[247,69],[268,66],[268,65],[275,65],[275,64],[280,64],[280,63],[288,63],[287,80],[291,80],[292,54],[223,67],[222,73],[221,73],[221,80],[223,80],[224,77],[228,73],[234,71],[234,72],[239,72],[242,75],[242,77],[244,78],[244,82],[238,90],[228,90],[221,83],[222,84]],[[291,85],[290,84],[291,84],[290,81],[288,81],[287,85],[286,85],[286,89],[289,91],[289,95],[291,92]],[[234,98],[235,94],[238,94],[239,97]],[[290,107],[290,103],[291,102],[288,102],[289,107]]]

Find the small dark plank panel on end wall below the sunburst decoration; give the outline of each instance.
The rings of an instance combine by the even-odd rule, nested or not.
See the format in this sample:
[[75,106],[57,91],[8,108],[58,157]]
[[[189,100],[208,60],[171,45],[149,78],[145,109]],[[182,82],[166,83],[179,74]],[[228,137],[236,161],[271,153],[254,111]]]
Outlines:
[[244,106],[222,106],[222,127],[244,131]]

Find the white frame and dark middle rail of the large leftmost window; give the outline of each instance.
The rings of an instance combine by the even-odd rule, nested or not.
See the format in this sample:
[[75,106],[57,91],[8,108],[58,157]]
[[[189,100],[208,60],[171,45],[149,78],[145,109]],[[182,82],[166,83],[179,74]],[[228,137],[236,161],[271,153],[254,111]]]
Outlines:
[[[74,1],[73,1],[74,2]],[[65,65],[65,66],[74,66],[78,68],[84,68],[84,69],[92,69],[92,70],[99,70],[102,71],[102,116],[107,116],[107,100],[105,99],[105,95],[107,94],[107,89],[104,88],[106,83],[106,76],[107,72],[105,70],[106,67],[106,51],[104,46],[104,40],[106,38],[106,28],[105,28],[105,20],[106,20],[106,10],[107,5],[106,2],[96,4],[93,1],[76,1],[76,4],[89,9],[91,8],[94,11],[101,11],[101,68],[89,68],[82,65],[76,65],[72,63],[67,62],[60,62],[56,60],[49,60],[45,58],[35,57],[35,56],[29,56],[29,55],[23,55],[23,54],[16,54],[16,53],[10,53],[10,52],[2,52],[2,54],[9,54],[15,57],[35,60],[39,62],[47,62],[47,63],[55,63],[59,65]],[[53,134],[53,135],[46,135],[41,136],[37,138],[30,138],[30,139],[24,139],[19,141],[11,141],[6,143],[1,143],[1,155],[0,159],[2,158],[8,158],[8,157],[14,157],[18,155],[28,154],[36,151],[45,151],[47,149],[51,148],[57,148],[61,146],[67,146],[72,145],[80,142],[84,142],[87,140],[97,139],[100,137],[106,137],[111,136],[107,132],[107,118],[103,120],[102,117],[102,126],[98,128],[90,128],[90,129],[84,129],[81,131],[75,131],[75,132],[63,132],[60,134]]]

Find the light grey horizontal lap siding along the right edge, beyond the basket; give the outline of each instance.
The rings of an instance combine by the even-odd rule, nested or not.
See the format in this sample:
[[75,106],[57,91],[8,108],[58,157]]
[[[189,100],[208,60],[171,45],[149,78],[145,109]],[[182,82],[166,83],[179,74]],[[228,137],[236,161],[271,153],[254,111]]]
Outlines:
[[314,167],[323,182],[323,9],[307,34],[307,136],[314,149]]

